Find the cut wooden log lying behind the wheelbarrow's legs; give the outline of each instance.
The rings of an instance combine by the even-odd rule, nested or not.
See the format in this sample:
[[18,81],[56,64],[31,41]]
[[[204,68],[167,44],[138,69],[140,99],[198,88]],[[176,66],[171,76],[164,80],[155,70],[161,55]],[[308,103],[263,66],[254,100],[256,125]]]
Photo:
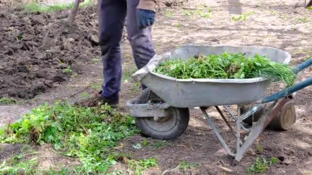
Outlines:
[[[252,106],[242,106],[240,107],[241,114],[247,112]],[[262,116],[264,112],[264,108],[260,108],[255,114],[252,116],[249,116],[245,120],[243,120],[244,123],[247,123],[249,125],[253,122],[256,122],[259,120],[259,118]],[[252,118],[253,117],[253,118]],[[296,108],[292,101],[288,101],[280,110],[280,112],[277,114],[275,118],[272,119],[272,121],[268,124],[267,128],[273,129],[273,130],[288,130],[291,128],[291,126],[294,125],[296,122]]]

